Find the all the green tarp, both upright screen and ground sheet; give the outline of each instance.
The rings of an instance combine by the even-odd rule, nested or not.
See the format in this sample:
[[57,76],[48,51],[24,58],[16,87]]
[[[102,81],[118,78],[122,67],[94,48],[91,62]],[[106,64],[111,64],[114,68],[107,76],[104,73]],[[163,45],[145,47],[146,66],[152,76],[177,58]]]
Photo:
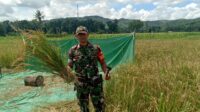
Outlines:
[[[51,41],[58,45],[63,54],[67,54],[70,47],[77,44],[77,40]],[[107,39],[90,39],[93,44],[98,44],[105,55],[106,63],[115,68],[121,63],[133,62],[135,39],[131,36],[114,37]],[[67,59],[66,59],[67,60]],[[64,81],[51,80],[52,74],[41,72],[41,66],[35,59],[28,59],[29,63],[36,64],[28,71],[3,74],[0,79],[0,112],[31,112],[36,108],[61,101],[75,100],[73,85]],[[24,77],[43,75],[45,77],[44,87],[24,86]],[[57,77],[57,79],[61,79]]]

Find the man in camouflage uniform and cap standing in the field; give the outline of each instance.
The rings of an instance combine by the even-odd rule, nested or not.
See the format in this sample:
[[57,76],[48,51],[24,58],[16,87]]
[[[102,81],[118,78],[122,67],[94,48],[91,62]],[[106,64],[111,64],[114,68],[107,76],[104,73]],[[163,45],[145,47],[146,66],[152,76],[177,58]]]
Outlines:
[[109,80],[107,65],[104,55],[98,45],[88,41],[88,30],[84,26],[76,29],[75,37],[79,44],[73,46],[68,52],[68,66],[75,67],[75,90],[81,112],[89,112],[89,96],[96,112],[105,112],[103,79],[99,74],[98,62],[100,62],[105,79]]

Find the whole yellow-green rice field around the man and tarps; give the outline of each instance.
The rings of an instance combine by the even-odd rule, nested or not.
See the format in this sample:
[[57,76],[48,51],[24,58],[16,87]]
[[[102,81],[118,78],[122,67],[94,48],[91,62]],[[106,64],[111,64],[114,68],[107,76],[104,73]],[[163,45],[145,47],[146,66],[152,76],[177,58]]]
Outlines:
[[[9,68],[23,43],[20,38],[0,37],[0,49],[0,64]],[[111,75],[104,88],[106,112],[200,112],[200,33],[138,33],[135,64],[121,65]],[[68,110],[78,111],[76,101],[38,112]]]

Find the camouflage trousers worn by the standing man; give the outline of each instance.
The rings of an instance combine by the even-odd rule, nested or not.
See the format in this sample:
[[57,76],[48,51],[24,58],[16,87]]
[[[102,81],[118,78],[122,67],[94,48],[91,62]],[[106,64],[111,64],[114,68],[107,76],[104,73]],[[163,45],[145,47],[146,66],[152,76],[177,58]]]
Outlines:
[[89,97],[95,112],[105,112],[103,82],[91,84],[77,81],[75,83],[76,96],[81,112],[89,112]]

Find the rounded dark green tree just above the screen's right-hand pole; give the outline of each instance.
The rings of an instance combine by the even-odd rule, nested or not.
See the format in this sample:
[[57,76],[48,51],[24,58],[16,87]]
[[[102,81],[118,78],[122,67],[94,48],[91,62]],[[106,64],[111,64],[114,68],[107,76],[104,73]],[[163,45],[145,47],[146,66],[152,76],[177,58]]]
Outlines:
[[130,32],[139,31],[139,29],[143,26],[143,22],[140,20],[133,20],[129,23],[128,28]]

